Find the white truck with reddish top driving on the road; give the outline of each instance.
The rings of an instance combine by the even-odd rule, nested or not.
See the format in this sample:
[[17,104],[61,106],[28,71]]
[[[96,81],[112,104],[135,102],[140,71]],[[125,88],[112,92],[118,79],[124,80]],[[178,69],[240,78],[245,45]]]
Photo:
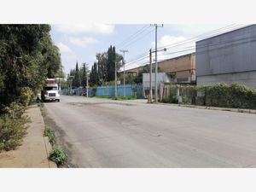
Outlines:
[[41,100],[60,102],[60,90],[55,79],[46,79],[44,89],[41,91]]

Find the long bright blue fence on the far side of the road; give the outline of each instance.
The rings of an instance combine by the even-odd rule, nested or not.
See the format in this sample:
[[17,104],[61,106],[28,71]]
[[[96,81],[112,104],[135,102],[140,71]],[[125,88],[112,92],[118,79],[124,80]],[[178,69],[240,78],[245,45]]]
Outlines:
[[[64,95],[70,95],[70,91],[65,89],[61,90]],[[86,89],[76,88],[73,89],[73,95],[85,96]],[[124,85],[117,86],[117,95],[124,96]],[[114,85],[99,86],[96,88],[89,88],[88,96],[114,96]],[[137,98],[143,98],[143,84],[125,84],[125,96],[137,96]]]

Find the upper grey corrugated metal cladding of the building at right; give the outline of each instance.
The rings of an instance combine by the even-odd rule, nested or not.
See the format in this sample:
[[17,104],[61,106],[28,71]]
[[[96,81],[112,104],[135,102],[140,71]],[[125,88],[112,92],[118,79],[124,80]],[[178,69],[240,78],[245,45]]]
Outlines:
[[256,25],[196,43],[197,76],[256,70]]

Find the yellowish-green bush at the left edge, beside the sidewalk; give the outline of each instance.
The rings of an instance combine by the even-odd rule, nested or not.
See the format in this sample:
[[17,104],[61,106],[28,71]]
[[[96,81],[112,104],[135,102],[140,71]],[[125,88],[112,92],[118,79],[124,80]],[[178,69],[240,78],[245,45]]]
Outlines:
[[26,117],[15,119],[8,114],[0,117],[0,151],[15,149],[26,135]]

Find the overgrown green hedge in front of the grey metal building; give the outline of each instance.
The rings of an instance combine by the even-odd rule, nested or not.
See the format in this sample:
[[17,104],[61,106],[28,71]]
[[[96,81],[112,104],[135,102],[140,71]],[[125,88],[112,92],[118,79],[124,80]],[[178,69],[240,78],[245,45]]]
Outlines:
[[170,94],[163,98],[162,102],[172,102],[172,98],[177,96],[177,89],[179,89],[179,95],[183,96],[184,104],[256,109],[256,89],[244,84],[168,85]]

